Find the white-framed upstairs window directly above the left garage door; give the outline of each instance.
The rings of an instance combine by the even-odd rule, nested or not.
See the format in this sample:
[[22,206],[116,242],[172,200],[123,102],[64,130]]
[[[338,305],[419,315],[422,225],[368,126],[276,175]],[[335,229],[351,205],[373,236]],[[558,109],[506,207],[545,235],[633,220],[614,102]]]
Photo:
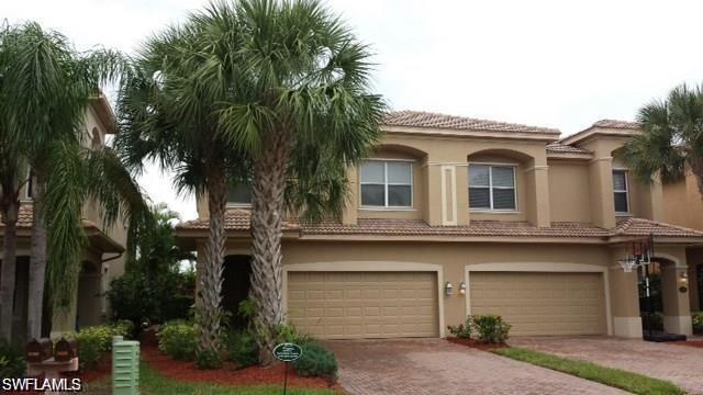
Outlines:
[[413,168],[409,160],[365,160],[361,163],[361,206],[412,207]]

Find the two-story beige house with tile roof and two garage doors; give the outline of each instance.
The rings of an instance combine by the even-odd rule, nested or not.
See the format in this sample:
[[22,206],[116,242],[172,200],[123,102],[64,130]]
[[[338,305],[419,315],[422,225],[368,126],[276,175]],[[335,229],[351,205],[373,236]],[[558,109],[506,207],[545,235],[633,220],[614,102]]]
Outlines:
[[[683,221],[685,187],[638,183],[613,159],[636,124],[600,121],[559,139],[550,128],[402,111],[382,128],[376,153],[349,170],[342,222],[284,224],[283,305],[298,329],[335,339],[443,337],[467,314],[492,313],[514,336],[641,337],[640,274],[616,260],[651,234],[663,324],[691,334],[698,290],[679,287],[701,263],[693,257],[703,233],[667,222],[703,223]],[[231,311],[249,286],[248,199],[233,187],[223,286]],[[205,202],[199,219],[177,227],[199,257]]]

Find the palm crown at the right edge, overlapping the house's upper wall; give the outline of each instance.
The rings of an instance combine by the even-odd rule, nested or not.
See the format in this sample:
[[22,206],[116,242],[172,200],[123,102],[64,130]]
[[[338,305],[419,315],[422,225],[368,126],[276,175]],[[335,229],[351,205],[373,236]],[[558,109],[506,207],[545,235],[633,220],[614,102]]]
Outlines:
[[643,133],[617,153],[643,182],[658,174],[663,182],[680,180],[687,167],[703,193],[703,87],[674,88],[637,115]]

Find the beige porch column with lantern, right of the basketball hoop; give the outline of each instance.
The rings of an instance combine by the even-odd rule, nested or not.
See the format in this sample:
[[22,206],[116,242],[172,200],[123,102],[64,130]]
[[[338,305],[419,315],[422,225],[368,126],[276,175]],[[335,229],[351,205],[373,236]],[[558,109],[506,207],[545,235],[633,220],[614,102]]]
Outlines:
[[[689,279],[685,266],[661,266],[661,297],[663,303],[663,329],[670,334],[693,335],[689,305]],[[682,292],[683,291],[683,292]]]

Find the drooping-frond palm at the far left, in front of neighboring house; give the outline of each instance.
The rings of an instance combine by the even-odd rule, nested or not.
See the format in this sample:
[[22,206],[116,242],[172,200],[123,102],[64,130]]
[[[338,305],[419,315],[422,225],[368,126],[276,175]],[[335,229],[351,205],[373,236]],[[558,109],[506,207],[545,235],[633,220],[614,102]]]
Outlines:
[[79,54],[66,37],[32,22],[10,29],[15,50],[4,59],[3,89],[12,98],[5,127],[18,134],[18,151],[35,181],[27,305],[27,336],[33,338],[42,332],[45,286],[49,306],[71,303],[85,244],[85,200],[101,199],[107,226],[120,213],[132,221],[146,218],[140,213],[148,210],[113,154],[81,149],[85,111],[100,94],[100,84],[116,77],[119,54]]

